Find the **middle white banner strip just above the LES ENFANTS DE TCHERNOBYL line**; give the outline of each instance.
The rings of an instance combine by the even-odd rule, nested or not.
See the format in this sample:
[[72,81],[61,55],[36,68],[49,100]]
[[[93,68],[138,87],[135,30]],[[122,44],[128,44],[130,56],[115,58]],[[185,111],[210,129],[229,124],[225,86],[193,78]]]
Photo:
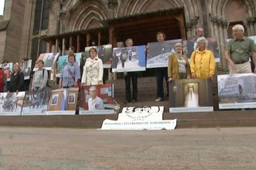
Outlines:
[[120,113],[117,121],[163,120],[163,113]]

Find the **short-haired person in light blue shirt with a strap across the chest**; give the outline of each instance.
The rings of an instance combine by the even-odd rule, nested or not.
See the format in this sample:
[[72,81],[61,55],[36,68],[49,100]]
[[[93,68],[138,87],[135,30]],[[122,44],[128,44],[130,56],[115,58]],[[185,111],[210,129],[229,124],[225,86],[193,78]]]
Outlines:
[[68,64],[61,71],[59,89],[61,88],[77,88],[78,80],[81,79],[80,67],[76,62],[74,47],[69,48]]

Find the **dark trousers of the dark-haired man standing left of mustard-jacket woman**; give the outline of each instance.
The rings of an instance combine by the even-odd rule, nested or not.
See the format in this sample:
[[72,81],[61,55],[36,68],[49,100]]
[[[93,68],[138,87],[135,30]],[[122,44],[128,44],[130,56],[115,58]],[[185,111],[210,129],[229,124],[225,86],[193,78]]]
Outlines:
[[157,76],[157,97],[161,97],[163,99],[163,77],[166,80],[167,85],[167,94],[169,94],[169,85],[168,85],[168,71],[167,67],[156,68],[156,76]]

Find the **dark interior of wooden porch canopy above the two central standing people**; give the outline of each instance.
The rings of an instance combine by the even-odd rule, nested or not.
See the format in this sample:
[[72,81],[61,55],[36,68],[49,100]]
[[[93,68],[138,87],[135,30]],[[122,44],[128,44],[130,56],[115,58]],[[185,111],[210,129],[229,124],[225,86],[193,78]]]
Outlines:
[[116,42],[124,42],[127,38],[132,38],[134,45],[156,42],[158,31],[166,34],[165,40],[187,38],[184,8],[164,9],[105,22],[109,26],[109,43],[113,47],[116,47]]

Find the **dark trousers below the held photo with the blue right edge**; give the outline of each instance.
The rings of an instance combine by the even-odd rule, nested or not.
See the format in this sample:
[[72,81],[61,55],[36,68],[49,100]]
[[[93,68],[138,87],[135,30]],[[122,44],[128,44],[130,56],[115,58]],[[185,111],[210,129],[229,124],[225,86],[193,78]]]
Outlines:
[[131,81],[132,81],[132,99],[137,101],[137,79],[138,74],[134,72],[128,72],[125,76],[125,91],[126,91],[126,100],[131,102]]

